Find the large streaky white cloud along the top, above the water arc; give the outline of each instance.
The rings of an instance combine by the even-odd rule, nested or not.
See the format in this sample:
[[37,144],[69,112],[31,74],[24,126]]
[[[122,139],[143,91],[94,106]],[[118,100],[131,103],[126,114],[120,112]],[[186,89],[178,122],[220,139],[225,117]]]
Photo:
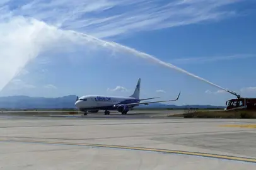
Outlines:
[[228,5],[240,1],[245,0],[35,0],[21,1],[18,8],[11,10],[6,4],[2,11],[9,15],[32,16],[59,28],[104,38],[131,31],[220,20],[236,14]]

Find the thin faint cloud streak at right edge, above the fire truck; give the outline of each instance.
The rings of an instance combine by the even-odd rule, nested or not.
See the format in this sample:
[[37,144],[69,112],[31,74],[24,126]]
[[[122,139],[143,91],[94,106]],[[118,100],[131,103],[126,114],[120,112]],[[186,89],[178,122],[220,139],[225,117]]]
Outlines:
[[256,57],[256,54],[236,54],[236,55],[223,55],[223,56],[209,56],[209,57],[190,57],[183,59],[174,59],[172,63],[178,64],[201,64],[206,62],[218,62],[221,60],[235,60],[235,59],[247,59],[250,57]]

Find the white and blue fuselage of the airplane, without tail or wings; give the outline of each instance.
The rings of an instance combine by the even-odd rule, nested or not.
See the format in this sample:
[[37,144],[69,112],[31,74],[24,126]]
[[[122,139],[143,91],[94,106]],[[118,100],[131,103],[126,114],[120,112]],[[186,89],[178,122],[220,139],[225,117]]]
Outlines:
[[75,105],[79,110],[112,110],[114,105],[138,102],[131,97],[88,95],[79,98]]

